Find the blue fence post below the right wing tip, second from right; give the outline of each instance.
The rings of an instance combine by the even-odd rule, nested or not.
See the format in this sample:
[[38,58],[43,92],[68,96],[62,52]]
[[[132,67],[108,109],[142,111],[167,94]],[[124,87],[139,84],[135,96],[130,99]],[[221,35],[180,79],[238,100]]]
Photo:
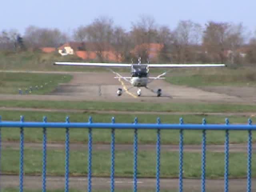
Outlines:
[[[226,126],[229,124],[228,118],[225,120]],[[225,173],[224,173],[224,191],[228,192],[228,165],[229,165],[229,131],[225,134]]]

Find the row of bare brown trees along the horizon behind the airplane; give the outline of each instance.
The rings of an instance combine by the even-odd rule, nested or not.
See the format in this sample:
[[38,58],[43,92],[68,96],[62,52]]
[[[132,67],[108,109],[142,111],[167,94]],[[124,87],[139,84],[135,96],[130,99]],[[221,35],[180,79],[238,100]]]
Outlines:
[[[0,49],[16,48],[18,32],[3,31]],[[210,21],[202,26],[182,20],[174,29],[159,26],[154,18],[141,16],[132,22],[130,31],[117,26],[107,17],[99,17],[90,24],[79,26],[68,36],[58,29],[29,26],[22,36],[23,48],[58,47],[67,41],[85,42],[84,50],[96,52],[104,60],[104,51],[112,50],[124,62],[140,55],[150,57],[150,44],[161,44],[156,62],[250,62],[256,63],[256,34],[248,38],[244,26],[228,22]],[[144,45],[144,46],[141,46]],[[139,46],[136,53],[131,50]],[[20,46],[21,47],[21,46]]]

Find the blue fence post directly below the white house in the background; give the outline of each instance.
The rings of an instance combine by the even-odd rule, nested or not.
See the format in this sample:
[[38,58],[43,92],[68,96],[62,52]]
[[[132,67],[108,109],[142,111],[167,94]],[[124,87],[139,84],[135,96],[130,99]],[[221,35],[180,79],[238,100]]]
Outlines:
[[[70,123],[69,117],[66,117],[66,123]],[[66,127],[65,140],[65,192],[69,190],[69,128]]]

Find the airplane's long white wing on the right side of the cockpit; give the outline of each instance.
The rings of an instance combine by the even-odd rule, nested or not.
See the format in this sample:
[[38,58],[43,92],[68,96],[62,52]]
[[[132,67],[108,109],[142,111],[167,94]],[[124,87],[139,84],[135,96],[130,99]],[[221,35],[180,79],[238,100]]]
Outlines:
[[148,64],[151,68],[179,68],[179,67],[224,67],[225,64]]

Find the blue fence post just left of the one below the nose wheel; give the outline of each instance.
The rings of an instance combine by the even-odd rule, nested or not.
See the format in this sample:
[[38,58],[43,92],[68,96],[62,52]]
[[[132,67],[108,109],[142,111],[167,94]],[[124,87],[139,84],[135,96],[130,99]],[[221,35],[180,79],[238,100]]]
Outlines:
[[[115,118],[112,117],[112,123],[115,123]],[[111,132],[111,192],[115,191],[115,129]]]

